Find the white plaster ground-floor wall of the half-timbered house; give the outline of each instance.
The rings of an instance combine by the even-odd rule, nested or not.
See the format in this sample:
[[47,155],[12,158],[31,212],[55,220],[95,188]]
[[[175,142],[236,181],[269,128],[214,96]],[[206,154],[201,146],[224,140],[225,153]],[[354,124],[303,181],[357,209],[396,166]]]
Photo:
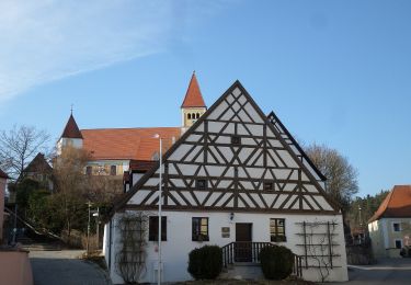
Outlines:
[[[156,216],[157,213],[152,212]],[[336,221],[339,224],[335,242],[339,247],[334,248],[334,253],[341,254],[336,259],[335,267],[331,271],[329,281],[347,281],[346,255],[344,247],[344,237],[342,229],[342,218],[340,215],[315,216],[315,215],[281,215],[281,214],[248,214],[235,213],[233,220],[230,220],[230,213],[202,213],[202,212],[163,212],[167,216],[167,241],[162,242],[162,260],[164,282],[176,282],[192,280],[187,273],[189,252],[194,248],[205,244],[226,246],[236,241],[236,223],[252,223],[252,240],[258,242],[270,241],[270,218],[286,219],[287,242],[279,242],[286,246],[293,252],[302,254],[302,247],[296,244],[302,243],[300,237],[296,233],[301,232],[301,226],[297,223],[305,221]],[[115,215],[118,217],[118,214]],[[192,241],[192,217],[208,217],[209,241]],[[230,237],[221,237],[221,227],[230,228]],[[114,242],[117,242],[117,235],[113,232]],[[116,243],[114,243],[116,244]],[[114,250],[112,251],[115,256]],[[113,259],[114,260],[114,259]],[[157,264],[157,242],[148,241],[147,244],[147,273],[141,282],[156,282],[155,264]],[[114,266],[111,269],[111,277],[114,284],[122,283],[122,278],[116,274]],[[319,281],[320,275],[317,269],[304,270],[304,277],[310,281]]]

